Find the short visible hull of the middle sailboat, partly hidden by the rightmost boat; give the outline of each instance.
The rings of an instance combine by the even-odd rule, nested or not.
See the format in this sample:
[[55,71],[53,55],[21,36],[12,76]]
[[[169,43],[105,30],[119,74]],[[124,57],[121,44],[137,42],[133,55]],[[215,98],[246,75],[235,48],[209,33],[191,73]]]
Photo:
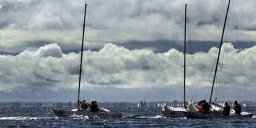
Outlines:
[[186,110],[183,107],[169,107],[167,105],[162,106],[162,113],[165,117],[185,117]]

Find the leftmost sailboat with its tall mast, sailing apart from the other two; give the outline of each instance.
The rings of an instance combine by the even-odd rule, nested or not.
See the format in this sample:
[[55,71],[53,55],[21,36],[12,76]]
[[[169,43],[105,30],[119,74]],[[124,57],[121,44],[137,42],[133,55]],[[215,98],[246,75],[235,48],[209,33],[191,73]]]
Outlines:
[[82,73],[82,62],[83,62],[83,40],[85,35],[85,16],[86,16],[86,8],[87,3],[85,3],[85,15],[83,19],[83,39],[82,39],[82,47],[81,47],[81,60],[80,60],[80,71],[79,71],[79,85],[78,85],[78,96],[77,96],[77,108],[70,110],[57,110],[53,109],[53,113],[58,117],[71,117],[73,115],[81,115],[81,116],[97,116],[97,117],[122,117],[122,113],[111,113],[107,109],[99,108],[99,111],[92,112],[87,111],[87,109],[79,108],[80,104],[84,104],[87,106],[91,106],[89,103],[85,103],[85,101],[80,101],[80,85],[81,85],[81,73]]

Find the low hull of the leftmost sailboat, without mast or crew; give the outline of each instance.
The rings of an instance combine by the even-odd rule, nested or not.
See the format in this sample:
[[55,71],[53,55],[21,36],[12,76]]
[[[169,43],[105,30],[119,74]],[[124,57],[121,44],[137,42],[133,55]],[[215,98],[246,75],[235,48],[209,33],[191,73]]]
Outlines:
[[70,111],[70,110],[57,110],[53,109],[53,113],[57,115],[57,117],[71,117],[73,115],[81,115],[81,116],[89,116],[89,117],[122,117],[122,113],[111,113],[111,112],[91,112],[87,110],[77,110],[77,111]]

